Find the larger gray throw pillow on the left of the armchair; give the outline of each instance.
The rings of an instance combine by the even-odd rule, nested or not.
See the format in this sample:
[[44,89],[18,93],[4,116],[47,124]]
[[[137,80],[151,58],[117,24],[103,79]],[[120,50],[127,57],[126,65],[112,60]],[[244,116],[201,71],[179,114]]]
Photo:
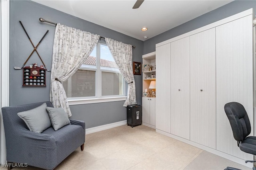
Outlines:
[[41,133],[52,126],[46,111],[46,103],[34,109],[19,112],[18,116],[23,119],[28,129],[32,132]]

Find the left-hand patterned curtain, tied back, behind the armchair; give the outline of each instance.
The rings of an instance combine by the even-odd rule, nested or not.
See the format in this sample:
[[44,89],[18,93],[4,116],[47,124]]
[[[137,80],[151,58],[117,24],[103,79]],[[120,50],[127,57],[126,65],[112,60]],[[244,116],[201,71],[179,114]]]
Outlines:
[[67,96],[62,86],[84,63],[98,43],[99,35],[81,31],[58,23],[55,29],[50,101],[54,107],[62,107],[68,116],[71,111]]

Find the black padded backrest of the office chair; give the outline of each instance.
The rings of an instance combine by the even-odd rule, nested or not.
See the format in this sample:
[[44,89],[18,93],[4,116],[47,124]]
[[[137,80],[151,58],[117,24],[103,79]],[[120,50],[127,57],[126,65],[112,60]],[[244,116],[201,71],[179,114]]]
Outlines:
[[243,141],[251,133],[251,124],[244,106],[237,102],[225,104],[224,110],[228,116],[233,136],[236,141]]

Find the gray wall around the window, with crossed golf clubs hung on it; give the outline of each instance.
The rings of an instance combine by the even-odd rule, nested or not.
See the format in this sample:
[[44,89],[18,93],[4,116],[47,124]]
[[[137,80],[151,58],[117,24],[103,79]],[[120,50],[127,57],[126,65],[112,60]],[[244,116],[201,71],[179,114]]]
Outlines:
[[[33,51],[19,20],[22,21],[28,35],[36,46],[44,33],[49,29],[42,43],[38,47],[38,53],[42,57],[46,67],[51,69],[52,46],[55,25],[41,23],[39,18],[58,22],[76,29],[88,31],[103,37],[122,41],[123,43],[135,45],[133,49],[133,61],[142,62],[143,41],[134,39],[122,33],[107,29],[100,25],[82,20],[80,18],[54,10],[32,1],[11,0],[10,1],[10,106],[42,102],[49,100],[50,94],[50,72],[46,74],[46,87],[22,87],[22,70],[14,70],[14,66],[21,67],[26,58]],[[32,63],[43,65],[36,53],[30,57],[25,66]],[[142,104],[142,76],[135,75],[137,103]],[[84,120],[86,128],[105,125],[126,120],[126,107],[124,101],[106,102],[99,104],[84,104],[70,106],[72,119]]]

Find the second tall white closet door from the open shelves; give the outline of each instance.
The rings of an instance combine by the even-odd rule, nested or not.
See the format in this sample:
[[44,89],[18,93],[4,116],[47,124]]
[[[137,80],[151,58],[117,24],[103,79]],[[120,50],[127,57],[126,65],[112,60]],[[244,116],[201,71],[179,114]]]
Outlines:
[[190,139],[190,42],[171,43],[171,133]]

